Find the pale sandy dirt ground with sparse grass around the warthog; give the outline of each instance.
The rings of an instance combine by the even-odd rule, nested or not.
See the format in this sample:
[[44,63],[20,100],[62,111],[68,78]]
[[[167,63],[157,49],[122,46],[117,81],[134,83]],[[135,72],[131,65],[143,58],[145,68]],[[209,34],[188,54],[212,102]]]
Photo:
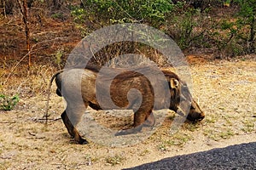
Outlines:
[[[170,156],[255,142],[256,61],[191,63],[192,94],[206,113],[203,121],[185,122],[177,133],[170,133],[177,114],[167,111],[165,122],[141,143],[124,147],[95,141],[76,144],[61,122],[63,100],[53,88],[47,125],[40,120],[45,95],[21,98],[15,110],[0,111],[0,169],[122,169]],[[102,118],[103,126],[108,122],[104,113],[94,111],[96,119]]]

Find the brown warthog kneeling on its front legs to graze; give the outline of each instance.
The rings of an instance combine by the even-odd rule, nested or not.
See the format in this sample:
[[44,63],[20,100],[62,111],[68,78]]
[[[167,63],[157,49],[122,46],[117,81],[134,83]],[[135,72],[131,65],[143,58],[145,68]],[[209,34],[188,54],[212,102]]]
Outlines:
[[[88,143],[75,128],[84,114],[84,106],[85,108],[90,106],[94,110],[118,108],[133,110],[134,127],[136,128],[119,131],[116,135],[137,133],[143,126],[154,126],[153,110],[170,109],[176,111],[179,115],[187,116],[187,119],[192,122],[204,118],[203,111],[192,99],[186,83],[175,73],[160,71],[165,77],[163,81],[158,80],[157,77],[160,76],[158,75],[160,73],[155,71],[154,77],[156,78],[149,81],[147,77],[140,73],[142,71],[152,72],[146,67],[137,68],[133,71],[107,68],[103,71],[103,75],[102,71],[100,75],[99,69],[91,66],[85,69],[56,72],[50,80],[50,85],[55,79],[56,94],[63,96],[67,101],[67,108],[61,114],[61,118],[67,127],[68,133],[79,144]],[[113,79],[104,76],[113,77]],[[110,86],[104,86],[107,82],[110,82]],[[158,89],[153,88],[155,86],[166,88],[166,94],[155,96],[154,94],[158,93]],[[134,90],[134,88],[137,90]],[[137,95],[138,91],[139,95]],[[110,94],[111,99],[108,98],[107,94]],[[110,100],[112,103],[109,102]],[[167,105],[161,105],[161,103],[165,103],[165,100],[168,101]],[[188,106],[190,109],[184,111],[184,108]],[[189,113],[186,115],[186,112]]]

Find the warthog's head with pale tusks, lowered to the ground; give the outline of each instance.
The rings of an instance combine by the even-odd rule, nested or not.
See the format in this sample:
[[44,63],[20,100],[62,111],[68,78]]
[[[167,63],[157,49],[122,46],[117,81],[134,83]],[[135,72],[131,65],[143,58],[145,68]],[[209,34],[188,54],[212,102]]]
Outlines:
[[186,82],[178,78],[170,79],[171,105],[170,109],[181,116],[187,116],[189,121],[201,121],[205,114],[192,98]]

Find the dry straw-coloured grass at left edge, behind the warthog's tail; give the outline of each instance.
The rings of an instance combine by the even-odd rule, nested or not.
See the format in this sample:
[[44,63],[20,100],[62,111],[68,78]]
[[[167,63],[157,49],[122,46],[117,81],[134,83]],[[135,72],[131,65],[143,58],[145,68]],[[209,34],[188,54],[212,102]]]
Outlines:
[[0,93],[9,96],[18,94],[20,98],[30,98],[44,95],[47,91],[49,79],[56,71],[52,65],[32,65],[27,71],[26,65],[18,65],[13,71],[0,68]]

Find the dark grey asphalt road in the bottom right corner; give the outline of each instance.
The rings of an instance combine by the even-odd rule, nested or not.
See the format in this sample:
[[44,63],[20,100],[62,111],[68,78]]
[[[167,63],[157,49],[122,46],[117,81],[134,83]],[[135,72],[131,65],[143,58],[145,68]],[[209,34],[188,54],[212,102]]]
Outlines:
[[256,170],[256,142],[173,156],[126,170],[224,169]]

